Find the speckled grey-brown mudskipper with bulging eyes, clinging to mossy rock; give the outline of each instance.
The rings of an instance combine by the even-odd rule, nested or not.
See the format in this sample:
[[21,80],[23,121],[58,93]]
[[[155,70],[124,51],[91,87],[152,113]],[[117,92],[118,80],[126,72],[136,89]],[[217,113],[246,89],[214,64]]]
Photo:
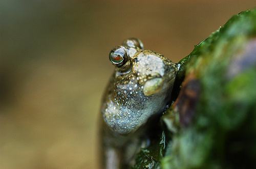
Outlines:
[[105,168],[110,168],[110,163],[116,163],[112,168],[119,168],[117,163],[121,159],[110,158],[108,154],[120,157],[118,149],[123,149],[128,138],[134,138],[131,134],[164,110],[170,102],[178,66],[157,52],[144,50],[141,41],[135,38],[114,48],[110,60],[115,71],[101,106],[103,158]]

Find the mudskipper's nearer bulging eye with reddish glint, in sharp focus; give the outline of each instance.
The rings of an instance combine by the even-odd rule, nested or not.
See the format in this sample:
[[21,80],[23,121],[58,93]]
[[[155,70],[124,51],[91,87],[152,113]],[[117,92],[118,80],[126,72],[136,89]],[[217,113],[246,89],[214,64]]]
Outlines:
[[124,47],[117,47],[110,52],[110,61],[117,67],[124,65],[127,62],[127,53]]

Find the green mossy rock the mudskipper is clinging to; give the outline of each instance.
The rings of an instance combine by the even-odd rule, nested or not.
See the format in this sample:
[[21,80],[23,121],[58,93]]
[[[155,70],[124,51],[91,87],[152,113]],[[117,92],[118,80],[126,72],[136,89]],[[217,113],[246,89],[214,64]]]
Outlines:
[[174,104],[133,168],[254,168],[256,10],[233,16],[179,64]]

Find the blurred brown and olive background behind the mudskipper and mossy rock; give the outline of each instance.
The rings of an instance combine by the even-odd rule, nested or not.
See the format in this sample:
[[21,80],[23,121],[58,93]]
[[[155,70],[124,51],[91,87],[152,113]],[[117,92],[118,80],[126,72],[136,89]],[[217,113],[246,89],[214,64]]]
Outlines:
[[111,48],[174,62],[251,1],[0,1],[0,168],[98,168]]

